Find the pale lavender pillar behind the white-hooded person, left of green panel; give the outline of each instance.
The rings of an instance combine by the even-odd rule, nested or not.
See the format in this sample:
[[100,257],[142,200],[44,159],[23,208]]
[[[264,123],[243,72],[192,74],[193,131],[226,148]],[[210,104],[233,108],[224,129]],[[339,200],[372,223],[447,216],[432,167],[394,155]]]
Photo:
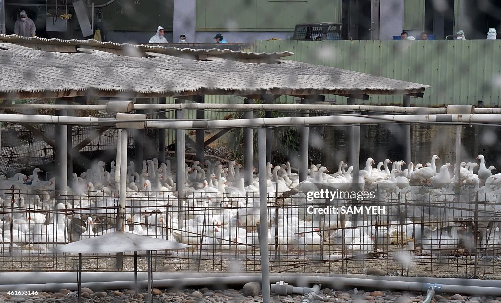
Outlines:
[[181,34],[186,35],[188,43],[197,42],[195,37],[196,0],[174,0],[172,16],[172,43],[177,43]]

